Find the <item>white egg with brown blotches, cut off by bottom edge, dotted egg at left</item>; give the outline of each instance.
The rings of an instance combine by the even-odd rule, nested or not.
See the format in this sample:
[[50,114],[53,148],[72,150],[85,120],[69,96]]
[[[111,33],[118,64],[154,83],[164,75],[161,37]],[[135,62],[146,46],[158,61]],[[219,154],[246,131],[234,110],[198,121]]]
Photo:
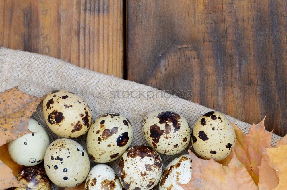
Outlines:
[[85,189],[89,190],[102,190],[113,189],[121,190],[122,185],[114,170],[105,164],[98,164],[94,166],[85,183]]

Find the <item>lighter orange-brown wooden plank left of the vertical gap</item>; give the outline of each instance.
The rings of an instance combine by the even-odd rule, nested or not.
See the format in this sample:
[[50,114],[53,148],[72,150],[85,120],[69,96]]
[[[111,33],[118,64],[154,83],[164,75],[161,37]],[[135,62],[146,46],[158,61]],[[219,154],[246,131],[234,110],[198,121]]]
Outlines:
[[2,0],[1,46],[123,77],[123,1]]

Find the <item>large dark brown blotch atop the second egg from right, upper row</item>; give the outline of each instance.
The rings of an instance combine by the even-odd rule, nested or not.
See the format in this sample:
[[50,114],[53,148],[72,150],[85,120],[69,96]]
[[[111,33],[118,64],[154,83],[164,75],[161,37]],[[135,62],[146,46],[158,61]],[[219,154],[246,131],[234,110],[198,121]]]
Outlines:
[[166,121],[172,123],[174,133],[176,133],[176,131],[178,131],[180,128],[180,122],[179,122],[180,115],[178,115],[175,112],[163,111],[158,114],[157,118],[160,119],[159,121],[160,124],[165,123]]

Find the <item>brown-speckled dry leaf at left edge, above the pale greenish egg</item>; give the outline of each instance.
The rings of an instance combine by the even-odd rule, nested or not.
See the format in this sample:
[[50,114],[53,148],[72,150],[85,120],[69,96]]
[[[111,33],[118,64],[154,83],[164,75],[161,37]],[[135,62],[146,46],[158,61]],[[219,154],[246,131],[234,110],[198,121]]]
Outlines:
[[24,94],[18,86],[0,93],[0,146],[31,133],[28,121],[42,99]]

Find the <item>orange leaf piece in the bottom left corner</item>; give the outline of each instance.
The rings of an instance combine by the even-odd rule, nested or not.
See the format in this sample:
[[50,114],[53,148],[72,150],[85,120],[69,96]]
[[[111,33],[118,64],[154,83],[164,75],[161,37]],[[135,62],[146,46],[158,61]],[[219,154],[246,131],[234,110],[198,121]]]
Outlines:
[[0,177],[1,184],[0,189],[8,189],[10,187],[27,187],[22,182],[18,181],[12,174],[12,170],[0,161]]

